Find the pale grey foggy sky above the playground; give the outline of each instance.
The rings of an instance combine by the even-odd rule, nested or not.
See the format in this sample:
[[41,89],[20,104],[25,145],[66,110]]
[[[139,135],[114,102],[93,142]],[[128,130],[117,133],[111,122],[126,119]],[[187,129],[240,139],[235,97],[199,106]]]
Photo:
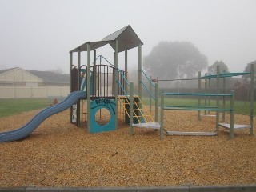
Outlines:
[[[144,43],[143,56],[160,41],[189,41],[209,66],[222,60],[242,72],[256,60],[255,7],[254,0],[0,0],[0,70],[68,74],[70,50],[130,25]],[[98,54],[113,60],[110,46]],[[138,65],[137,55],[128,51],[129,67]]]

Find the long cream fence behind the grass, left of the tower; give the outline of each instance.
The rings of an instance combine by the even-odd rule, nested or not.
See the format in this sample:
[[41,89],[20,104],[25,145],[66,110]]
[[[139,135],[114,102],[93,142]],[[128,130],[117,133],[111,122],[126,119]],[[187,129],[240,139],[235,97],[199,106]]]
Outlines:
[[0,86],[0,98],[66,97],[70,86]]

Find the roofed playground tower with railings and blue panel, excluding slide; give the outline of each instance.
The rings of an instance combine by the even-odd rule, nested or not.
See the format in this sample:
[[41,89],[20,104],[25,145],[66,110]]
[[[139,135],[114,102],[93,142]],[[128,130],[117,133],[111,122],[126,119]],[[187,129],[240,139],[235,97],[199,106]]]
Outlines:
[[[129,39],[129,41],[127,41]],[[114,64],[112,65],[102,55],[97,57],[96,50],[99,47],[110,44],[114,49]],[[128,82],[128,50],[138,47],[138,94],[134,94],[134,88]],[[81,53],[87,52],[87,63],[81,65]],[[94,51],[91,65],[90,52]],[[125,70],[118,68],[118,53],[125,51]],[[73,54],[78,53],[78,66],[73,64]],[[104,61],[106,64],[102,64]],[[89,133],[117,130],[118,113],[122,110],[125,121],[130,126],[138,126],[152,129],[160,129],[158,121],[154,122],[149,111],[142,102],[142,42],[130,26],[110,34],[99,42],[86,42],[70,51],[71,86],[70,92],[84,91],[85,97],[71,107],[70,122],[78,127],[86,122]],[[74,74],[74,75],[72,75]],[[146,75],[146,74],[145,74]],[[89,89],[90,87],[90,89]],[[132,109],[130,108],[132,106]],[[107,110],[110,120],[106,125],[97,122],[96,114],[101,110]],[[83,117],[86,121],[83,121]],[[130,133],[132,133],[130,131]]]

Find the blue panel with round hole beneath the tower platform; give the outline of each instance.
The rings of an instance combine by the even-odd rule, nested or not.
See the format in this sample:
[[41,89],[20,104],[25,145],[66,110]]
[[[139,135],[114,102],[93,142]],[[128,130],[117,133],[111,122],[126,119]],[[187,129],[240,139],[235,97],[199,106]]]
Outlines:
[[[115,101],[114,99],[99,98],[90,103],[90,133],[115,130]],[[106,109],[110,112],[110,121],[106,125],[99,125],[95,115],[98,110]]]

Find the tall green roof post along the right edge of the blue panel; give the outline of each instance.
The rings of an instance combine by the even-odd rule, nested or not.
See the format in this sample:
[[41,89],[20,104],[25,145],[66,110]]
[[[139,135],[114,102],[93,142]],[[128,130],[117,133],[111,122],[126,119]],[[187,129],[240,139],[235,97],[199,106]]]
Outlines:
[[[115,111],[118,113],[118,40],[115,40],[114,51],[114,100],[116,103]],[[118,115],[115,116],[115,130],[118,129]]]

